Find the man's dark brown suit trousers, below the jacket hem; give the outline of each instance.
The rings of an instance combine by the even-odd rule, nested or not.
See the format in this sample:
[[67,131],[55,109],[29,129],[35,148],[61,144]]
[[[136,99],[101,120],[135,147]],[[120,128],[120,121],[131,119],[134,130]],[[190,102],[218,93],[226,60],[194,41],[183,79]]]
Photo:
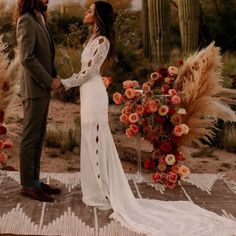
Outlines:
[[33,187],[35,181],[39,180],[49,101],[50,95],[23,101],[24,122],[20,146],[20,177],[23,187]]

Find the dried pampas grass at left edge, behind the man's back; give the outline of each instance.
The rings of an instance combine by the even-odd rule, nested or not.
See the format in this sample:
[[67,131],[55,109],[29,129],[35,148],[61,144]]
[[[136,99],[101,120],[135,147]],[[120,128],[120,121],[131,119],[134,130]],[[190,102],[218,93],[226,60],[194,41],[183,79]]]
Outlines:
[[19,73],[19,56],[10,61],[7,45],[0,38],[0,110],[5,111],[16,95],[16,78]]

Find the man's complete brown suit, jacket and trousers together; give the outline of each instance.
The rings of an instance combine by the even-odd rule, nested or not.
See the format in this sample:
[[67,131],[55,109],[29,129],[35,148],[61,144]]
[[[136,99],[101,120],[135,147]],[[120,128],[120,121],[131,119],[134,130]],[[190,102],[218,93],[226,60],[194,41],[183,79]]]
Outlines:
[[26,13],[17,22],[24,104],[24,127],[20,150],[21,184],[33,187],[39,180],[40,156],[46,131],[55,47],[47,26]]

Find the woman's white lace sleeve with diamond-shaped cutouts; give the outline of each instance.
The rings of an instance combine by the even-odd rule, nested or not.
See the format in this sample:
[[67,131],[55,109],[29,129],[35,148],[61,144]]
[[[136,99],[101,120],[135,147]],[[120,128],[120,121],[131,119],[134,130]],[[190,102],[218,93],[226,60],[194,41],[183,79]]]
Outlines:
[[68,79],[61,80],[61,83],[66,90],[80,86],[90,80],[93,75],[100,73],[100,68],[107,57],[110,43],[103,36],[99,36],[95,40],[96,41],[92,45],[93,49],[91,52],[91,58],[87,64],[87,68],[83,69],[78,74],[74,73]]

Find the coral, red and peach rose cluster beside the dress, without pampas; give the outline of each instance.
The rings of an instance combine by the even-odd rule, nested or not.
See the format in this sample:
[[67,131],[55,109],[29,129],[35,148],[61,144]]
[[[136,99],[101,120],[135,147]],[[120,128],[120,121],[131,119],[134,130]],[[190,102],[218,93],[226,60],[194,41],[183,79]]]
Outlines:
[[180,92],[174,81],[178,68],[160,68],[142,84],[124,81],[124,94],[113,94],[117,105],[123,105],[120,121],[127,137],[141,135],[153,146],[152,157],[144,167],[153,170],[153,181],[174,188],[181,177],[187,177],[189,168],[180,165],[184,160],[179,143],[189,128],[183,123],[187,114],[181,104]]

